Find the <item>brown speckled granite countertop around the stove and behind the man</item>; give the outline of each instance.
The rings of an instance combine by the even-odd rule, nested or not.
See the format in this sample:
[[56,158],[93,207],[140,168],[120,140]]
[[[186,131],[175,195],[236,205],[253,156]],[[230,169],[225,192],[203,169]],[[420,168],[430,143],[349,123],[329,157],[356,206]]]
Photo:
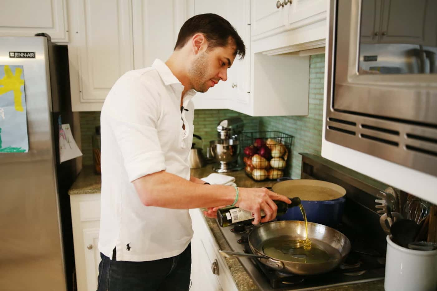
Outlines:
[[[209,164],[200,169],[191,169],[191,175],[198,178],[203,178],[213,173],[212,165]],[[235,183],[239,187],[271,187],[275,184],[275,181],[254,181],[246,176],[244,170],[225,173],[225,175],[235,177]],[[101,176],[94,173],[92,166],[84,166],[76,181],[73,183],[72,187],[68,191],[69,195],[76,194],[97,194],[101,192]],[[215,219],[205,218],[208,223],[215,240],[220,246],[220,249],[231,250],[222,232],[219,229]],[[252,281],[252,278],[247,274],[243,265],[239,262],[237,258],[225,258],[228,264],[229,270],[232,274],[234,281],[238,287],[239,291],[255,291],[260,290],[257,285]],[[336,286],[333,288],[319,289],[322,291],[383,291],[384,281],[373,281],[360,284],[350,284],[344,286]]]

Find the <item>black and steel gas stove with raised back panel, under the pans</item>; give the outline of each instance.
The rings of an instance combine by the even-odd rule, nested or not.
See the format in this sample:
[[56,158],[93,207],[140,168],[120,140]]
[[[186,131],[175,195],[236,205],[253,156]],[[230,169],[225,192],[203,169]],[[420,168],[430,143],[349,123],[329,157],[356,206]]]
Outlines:
[[[239,257],[260,290],[317,290],[346,284],[383,280],[385,275],[385,233],[375,208],[376,194],[388,187],[320,156],[301,153],[302,179],[324,180],[346,189],[342,222],[334,227],[350,240],[344,262],[326,274],[302,276],[273,270],[257,259]],[[267,222],[268,223],[268,222]],[[250,223],[218,227],[232,251],[251,253],[247,243]]]

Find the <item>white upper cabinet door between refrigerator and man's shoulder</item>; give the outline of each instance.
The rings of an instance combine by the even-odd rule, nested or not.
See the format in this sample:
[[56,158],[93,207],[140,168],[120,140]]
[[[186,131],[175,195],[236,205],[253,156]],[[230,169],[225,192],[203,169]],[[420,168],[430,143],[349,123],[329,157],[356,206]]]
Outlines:
[[73,111],[100,111],[115,81],[133,69],[132,2],[69,1]]

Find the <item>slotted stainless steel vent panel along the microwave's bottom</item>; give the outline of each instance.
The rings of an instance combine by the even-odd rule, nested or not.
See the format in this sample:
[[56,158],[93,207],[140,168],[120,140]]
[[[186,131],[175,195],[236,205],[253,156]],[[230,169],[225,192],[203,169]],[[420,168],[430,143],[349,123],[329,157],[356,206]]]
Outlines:
[[326,140],[437,177],[437,128],[328,111]]

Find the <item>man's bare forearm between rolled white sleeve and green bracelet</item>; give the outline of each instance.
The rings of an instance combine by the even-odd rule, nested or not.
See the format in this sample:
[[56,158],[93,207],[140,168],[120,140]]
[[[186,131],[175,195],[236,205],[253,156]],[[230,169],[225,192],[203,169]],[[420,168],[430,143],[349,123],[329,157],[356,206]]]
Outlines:
[[234,187],[198,184],[191,181],[191,177],[188,181],[165,171],[149,174],[132,183],[146,206],[173,209],[215,207],[232,204],[236,196]]

